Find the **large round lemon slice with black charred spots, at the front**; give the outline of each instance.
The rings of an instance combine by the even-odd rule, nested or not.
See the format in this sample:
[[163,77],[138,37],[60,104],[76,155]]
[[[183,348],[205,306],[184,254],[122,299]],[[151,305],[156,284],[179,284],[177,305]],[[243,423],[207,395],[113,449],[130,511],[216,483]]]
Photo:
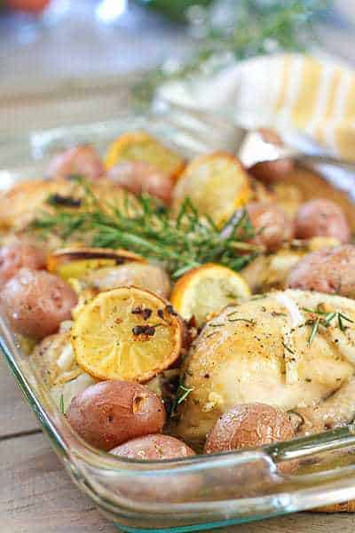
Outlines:
[[78,364],[99,379],[146,382],[177,360],[183,323],[153,292],[101,292],[78,314],[72,344]]

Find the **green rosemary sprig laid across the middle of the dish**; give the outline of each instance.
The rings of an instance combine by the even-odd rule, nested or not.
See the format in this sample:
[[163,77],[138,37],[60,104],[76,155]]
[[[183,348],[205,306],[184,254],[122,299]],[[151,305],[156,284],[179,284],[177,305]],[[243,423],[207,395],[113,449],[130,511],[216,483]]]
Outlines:
[[233,216],[225,227],[199,216],[187,198],[177,217],[170,209],[156,203],[148,195],[132,199],[127,195],[123,205],[99,200],[84,181],[83,202],[77,209],[62,205],[51,209],[34,221],[32,227],[60,238],[81,239],[93,247],[126,248],[146,259],[159,261],[174,278],[205,263],[219,263],[239,271],[254,259],[256,246],[248,251],[238,246],[255,235],[246,211]]

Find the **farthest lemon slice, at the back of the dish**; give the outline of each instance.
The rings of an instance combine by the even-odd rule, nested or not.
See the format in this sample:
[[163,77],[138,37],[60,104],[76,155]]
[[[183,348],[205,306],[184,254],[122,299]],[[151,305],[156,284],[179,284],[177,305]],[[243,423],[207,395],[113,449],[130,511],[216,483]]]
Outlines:
[[108,147],[105,158],[106,169],[127,161],[149,163],[171,178],[177,178],[185,167],[185,161],[180,155],[164,147],[146,131],[124,133]]

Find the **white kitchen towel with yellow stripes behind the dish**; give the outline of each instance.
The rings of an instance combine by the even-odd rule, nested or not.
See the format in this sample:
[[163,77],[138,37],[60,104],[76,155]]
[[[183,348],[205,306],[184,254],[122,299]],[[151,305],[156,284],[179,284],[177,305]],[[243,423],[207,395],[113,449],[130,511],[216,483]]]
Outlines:
[[327,58],[277,54],[234,63],[217,76],[162,87],[164,99],[233,110],[249,127],[297,129],[355,161],[355,72]]

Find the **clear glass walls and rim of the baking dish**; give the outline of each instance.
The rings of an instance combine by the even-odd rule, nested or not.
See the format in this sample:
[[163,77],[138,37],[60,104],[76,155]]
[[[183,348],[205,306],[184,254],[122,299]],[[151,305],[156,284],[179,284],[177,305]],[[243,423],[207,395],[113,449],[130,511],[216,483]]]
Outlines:
[[[35,132],[28,139],[0,139],[0,187],[38,178],[63,147],[90,142],[102,150],[120,132],[139,128],[185,155],[203,150],[163,116],[122,115],[109,123]],[[121,529],[216,528],[355,498],[355,426],[215,456],[161,462],[114,457],[91,448],[67,424],[4,319],[0,335],[5,360],[67,472]],[[299,473],[280,474],[276,464],[291,460],[303,462]]]

